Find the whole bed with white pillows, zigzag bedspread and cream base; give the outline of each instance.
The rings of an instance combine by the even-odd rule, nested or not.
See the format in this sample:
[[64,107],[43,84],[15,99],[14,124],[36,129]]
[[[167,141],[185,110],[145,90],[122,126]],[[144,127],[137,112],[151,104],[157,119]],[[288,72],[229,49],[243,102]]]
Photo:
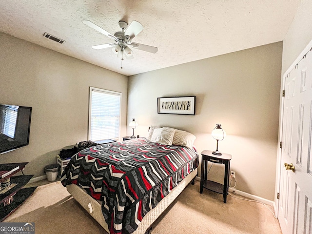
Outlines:
[[110,234],[145,234],[197,175],[195,136],[152,127],[147,137],[80,151],[61,182]]

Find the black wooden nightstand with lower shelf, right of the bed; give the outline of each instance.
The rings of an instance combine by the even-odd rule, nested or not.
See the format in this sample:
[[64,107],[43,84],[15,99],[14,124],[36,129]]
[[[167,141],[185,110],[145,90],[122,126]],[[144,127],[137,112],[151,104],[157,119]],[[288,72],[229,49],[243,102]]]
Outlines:
[[[201,175],[200,175],[200,193],[203,193],[203,188],[213,191],[218,194],[223,194],[223,202],[226,203],[226,196],[229,193],[229,176],[230,176],[230,161],[232,155],[224,154],[214,155],[210,150],[201,152]],[[224,183],[219,184],[215,181],[207,180],[208,161],[213,163],[222,163],[225,165]]]

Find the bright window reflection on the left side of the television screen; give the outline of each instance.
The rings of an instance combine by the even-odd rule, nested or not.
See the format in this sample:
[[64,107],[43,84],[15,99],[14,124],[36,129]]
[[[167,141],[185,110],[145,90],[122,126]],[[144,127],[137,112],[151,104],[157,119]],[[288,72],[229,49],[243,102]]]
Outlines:
[[3,106],[1,108],[2,122],[0,130],[2,134],[14,138],[16,120],[18,117],[18,106]]

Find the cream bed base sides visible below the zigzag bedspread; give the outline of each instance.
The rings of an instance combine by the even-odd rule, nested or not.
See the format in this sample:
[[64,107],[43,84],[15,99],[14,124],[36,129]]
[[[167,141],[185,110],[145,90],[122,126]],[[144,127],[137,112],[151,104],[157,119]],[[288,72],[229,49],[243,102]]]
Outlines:
[[[149,211],[142,219],[137,227],[137,230],[133,234],[145,234],[146,231],[152,226],[156,219],[161,215],[166,208],[176,199],[176,197],[184,190],[184,188],[195,178],[197,175],[197,168],[186,176],[178,186],[176,186],[167,196],[165,196],[156,207]],[[76,184],[70,184],[66,186],[67,191],[78,201],[78,203],[88,213],[98,221],[98,223],[109,233],[108,226],[105,222],[102,214],[101,203],[98,200],[89,196],[84,189],[81,189]]]

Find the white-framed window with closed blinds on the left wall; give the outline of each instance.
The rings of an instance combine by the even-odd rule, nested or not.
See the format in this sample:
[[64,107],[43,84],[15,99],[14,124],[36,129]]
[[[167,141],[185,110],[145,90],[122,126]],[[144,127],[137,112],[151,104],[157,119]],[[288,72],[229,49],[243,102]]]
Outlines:
[[118,139],[121,93],[90,87],[89,140]]

